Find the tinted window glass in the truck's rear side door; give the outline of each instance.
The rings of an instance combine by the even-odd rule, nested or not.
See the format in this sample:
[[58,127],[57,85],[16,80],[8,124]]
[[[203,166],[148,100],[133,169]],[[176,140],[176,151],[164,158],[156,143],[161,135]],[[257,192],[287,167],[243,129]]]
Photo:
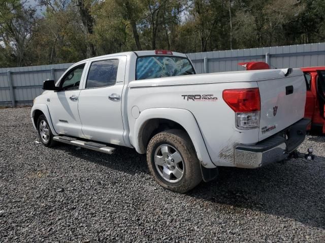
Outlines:
[[118,59],[92,62],[86,89],[112,86],[116,83]]

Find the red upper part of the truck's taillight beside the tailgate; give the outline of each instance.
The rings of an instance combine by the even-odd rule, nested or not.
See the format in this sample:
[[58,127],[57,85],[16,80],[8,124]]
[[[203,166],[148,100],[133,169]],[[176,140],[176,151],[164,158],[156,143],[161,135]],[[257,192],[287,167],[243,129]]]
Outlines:
[[258,88],[224,90],[222,98],[235,112],[261,110],[261,97]]

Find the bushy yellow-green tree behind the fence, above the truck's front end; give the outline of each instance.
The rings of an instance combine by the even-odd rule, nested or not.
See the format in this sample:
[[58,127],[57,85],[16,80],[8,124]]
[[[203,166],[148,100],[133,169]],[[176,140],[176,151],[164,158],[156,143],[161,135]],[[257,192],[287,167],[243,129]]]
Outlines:
[[87,58],[83,25],[73,5],[47,7],[32,36],[34,63],[76,62]]

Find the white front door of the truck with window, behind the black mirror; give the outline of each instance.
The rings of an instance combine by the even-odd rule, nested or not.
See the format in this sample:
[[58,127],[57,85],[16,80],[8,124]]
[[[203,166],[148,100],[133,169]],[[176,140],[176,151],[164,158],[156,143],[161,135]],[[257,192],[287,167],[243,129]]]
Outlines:
[[58,134],[83,137],[78,112],[80,81],[85,64],[73,67],[60,80],[60,91],[51,93],[48,100],[53,126]]

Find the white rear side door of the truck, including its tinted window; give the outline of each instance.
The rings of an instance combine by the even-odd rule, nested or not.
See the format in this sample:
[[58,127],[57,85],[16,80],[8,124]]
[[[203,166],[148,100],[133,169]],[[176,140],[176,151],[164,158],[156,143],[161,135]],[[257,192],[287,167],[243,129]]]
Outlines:
[[125,56],[96,59],[79,95],[79,115],[85,138],[124,145],[121,105]]

